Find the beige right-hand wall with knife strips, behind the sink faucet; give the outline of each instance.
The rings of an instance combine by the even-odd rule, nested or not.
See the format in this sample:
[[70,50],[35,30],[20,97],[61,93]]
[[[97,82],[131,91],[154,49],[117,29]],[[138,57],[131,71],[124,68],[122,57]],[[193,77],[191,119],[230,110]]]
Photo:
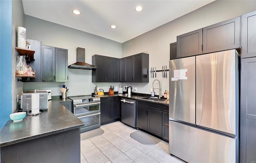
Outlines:
[[[176,36],[202,27],[210,26],[248,12],[256,10],[256,1],[239,0],[217,0],[194,12],[190,12],[172,22],[157,27],[134,39],[122,43],[123,57],[145,52],[149,54],[149,67],[162,70],[162,65],[168,65],[170,60],[170,43],[176,42]],[[155,78],[154,78],[155,79]],[[138,92],[150,94],[153,78],[148,84],[130,83],[137,87]],[[169,79],[162,78],[162,73],[157,73],[157,78],[161,81],[161,94],[169,89]],[[158,85],[156,85],[158,88]],[[156,92],[158,94],[158,92]]]

